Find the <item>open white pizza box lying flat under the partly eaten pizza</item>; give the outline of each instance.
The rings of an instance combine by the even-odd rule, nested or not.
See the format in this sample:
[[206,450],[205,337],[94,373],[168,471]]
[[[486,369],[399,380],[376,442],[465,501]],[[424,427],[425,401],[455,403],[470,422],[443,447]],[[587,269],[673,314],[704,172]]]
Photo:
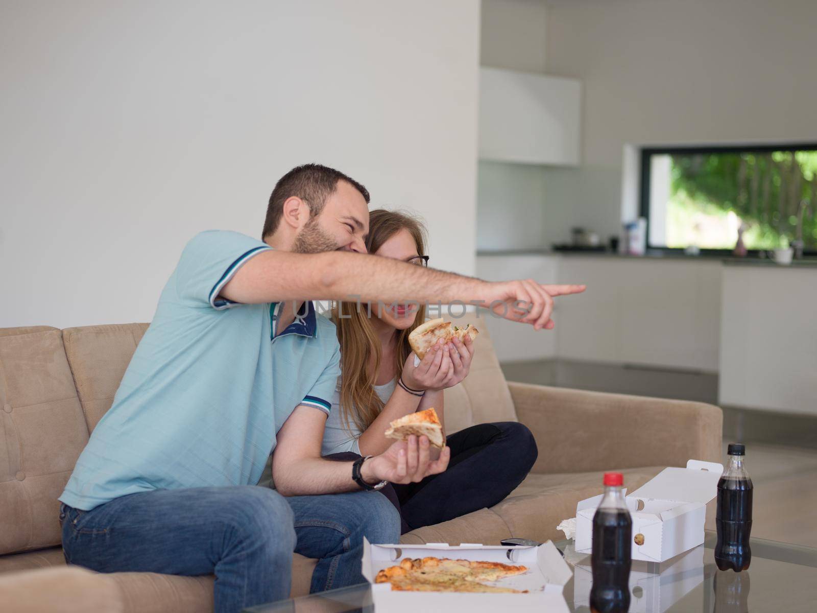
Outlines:
[[[391,584],[374,583],[374,578],[380,570],[400,564],[404,557],[430,556],[524,564],[529,568],[528,572],[506,577],[491,585],[526,589],[529,593],[392,592]],[[551,541],[538,547],[504,547],[471,543],[373,545],[364,539],[363,575],[372,584],[372,600],[376,613],[385,611],[495,613],[500,607],[512,607],[515,613],[516,611],[569,613],[562,590],[573,573]]]

